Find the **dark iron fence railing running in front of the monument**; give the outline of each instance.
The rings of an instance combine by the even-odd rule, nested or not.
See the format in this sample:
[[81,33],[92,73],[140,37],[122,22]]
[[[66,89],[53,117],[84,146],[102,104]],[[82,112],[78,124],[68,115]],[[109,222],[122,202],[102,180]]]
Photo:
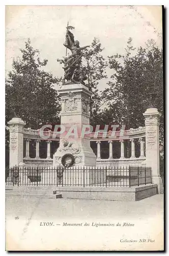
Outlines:
[[132,187],[152,183],[150,167],[73,166],[8,169],[6,185]]

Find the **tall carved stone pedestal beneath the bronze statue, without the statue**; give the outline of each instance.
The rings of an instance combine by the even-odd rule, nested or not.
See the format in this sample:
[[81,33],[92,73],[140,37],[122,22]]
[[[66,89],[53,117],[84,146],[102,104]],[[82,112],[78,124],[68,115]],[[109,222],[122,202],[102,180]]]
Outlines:
[[[90,146],[91,92],[81,83],[63,85],[59,91],[62,101],[60,146],[53,155],[53,166],[59,165],[65,154],[72,154],[76,166],[95,166],[96,156]],[[85,126],[86,125],[86,126]],[[84,135],[84,132],[88,134]]]

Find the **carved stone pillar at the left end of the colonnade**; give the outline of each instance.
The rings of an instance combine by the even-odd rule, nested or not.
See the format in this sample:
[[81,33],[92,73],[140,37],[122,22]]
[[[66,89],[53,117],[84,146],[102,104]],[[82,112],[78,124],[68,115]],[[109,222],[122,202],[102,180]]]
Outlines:
[[8,125],[10,131],[9,165],[13,167],[23,162],[23,126],[25,122],[19,117],[13,117]]

